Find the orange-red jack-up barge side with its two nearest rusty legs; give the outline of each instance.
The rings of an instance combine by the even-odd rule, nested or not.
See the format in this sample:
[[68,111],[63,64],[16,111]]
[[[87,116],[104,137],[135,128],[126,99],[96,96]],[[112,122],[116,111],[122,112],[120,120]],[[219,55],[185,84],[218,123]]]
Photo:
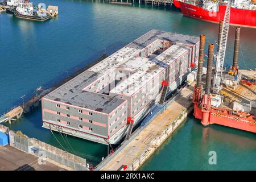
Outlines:
[[[237,35],[236,35],[237,36]],[[200,119],[202,125],[212,125],[218,124],[228,127],[233,127],[235,129],[250,131],[256,133],[256,118],[254,118],[249,113],[236,113],[233,114],[233,110],[226,110],[222,108],[217,108],[211,106],[210,99],[210,86],[212,79],[212,62],[213,62],[213,44],[209,44],[208,48],[208,63],[207,63],[207,77],[205,83],[205,94],[202,95],[202,69],[204,60],[204,42],[205,36],[200,36],[200,51],[199,51],[199,65],[197,71],[197,83],[193,90],[193,104],[195,118]],[[236,61],[235,61],[236,63]]]

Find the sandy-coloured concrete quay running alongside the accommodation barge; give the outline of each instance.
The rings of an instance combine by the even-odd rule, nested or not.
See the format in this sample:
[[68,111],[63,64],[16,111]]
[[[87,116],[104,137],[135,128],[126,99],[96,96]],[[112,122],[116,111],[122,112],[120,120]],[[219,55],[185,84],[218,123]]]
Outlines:
[[127,166],[128,171],[138,170],[192,111],[194,84],[183,88],[174,102],[167,104],[163,113],[148,121],[150,123],[137,136],[131,137],[122,150],[109,156],[108,162],[103,161],[96,169],[117,171],[122,166]]

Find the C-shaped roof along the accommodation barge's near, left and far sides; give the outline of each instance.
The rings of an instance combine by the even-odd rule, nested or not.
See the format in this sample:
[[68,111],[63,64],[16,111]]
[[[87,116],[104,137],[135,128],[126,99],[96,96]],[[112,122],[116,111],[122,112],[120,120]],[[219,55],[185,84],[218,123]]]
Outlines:
[[151,30],[51,93],[48,93],[44,98],[109,114],[125,100],[105,94],[88,92],[83,89],[124,63],[128,65],[133,59],[138,59],[135,55],[148,44],[158,39],[168,40],[174,42],[174,44],[184,43],[188,45],[194,45],[200,40],[196,36]]

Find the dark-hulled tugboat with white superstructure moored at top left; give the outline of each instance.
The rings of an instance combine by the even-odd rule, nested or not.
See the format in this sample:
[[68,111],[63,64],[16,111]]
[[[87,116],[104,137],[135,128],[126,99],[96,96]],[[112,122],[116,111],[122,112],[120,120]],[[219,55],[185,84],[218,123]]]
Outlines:
[[16,6],[11,8],[14,16],[22,19],[36,20],[44,22],[51,18],[51,15],[42,9],[42,6],[34,6],[32,2],[24,1],[19,2]]

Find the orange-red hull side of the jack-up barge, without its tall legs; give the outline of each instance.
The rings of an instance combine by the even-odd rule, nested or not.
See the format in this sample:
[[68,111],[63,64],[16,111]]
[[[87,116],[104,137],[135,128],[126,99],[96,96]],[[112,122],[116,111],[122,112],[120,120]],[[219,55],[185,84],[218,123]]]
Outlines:
[[225,111],[210,109],[209,113],[207,113],[208,121],[203,121],[204,113],[201,107],[198,107],[196,104],[194,106],[193,115],[195,118],[201,119],[201,123],[207,123],[207,125],[217,124],[256,133],[256,120],[253,119],[253,116],[241,117],[238,115],[230,115]]

